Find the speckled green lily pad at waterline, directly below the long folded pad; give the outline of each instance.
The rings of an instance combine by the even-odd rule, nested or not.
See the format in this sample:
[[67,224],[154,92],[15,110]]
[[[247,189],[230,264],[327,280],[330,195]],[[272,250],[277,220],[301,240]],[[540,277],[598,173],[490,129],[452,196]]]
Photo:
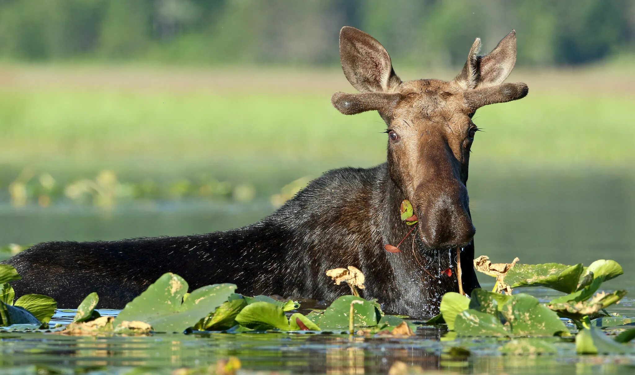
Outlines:
[[529,294],[515,294],[500,312],[516,336],[554,336],[569,332],[557,313]]

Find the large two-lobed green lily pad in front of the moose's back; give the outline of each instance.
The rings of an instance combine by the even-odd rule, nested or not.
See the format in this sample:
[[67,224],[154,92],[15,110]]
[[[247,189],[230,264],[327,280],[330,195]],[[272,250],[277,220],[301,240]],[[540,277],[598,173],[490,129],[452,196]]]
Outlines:
[[174,273],[165,273],[144,293],[133,299],[117,315],[115,326],[124,320],[139,320],[159,332],[182,332],[194,326],[234,293],[234,284],[204,286],[190,293],[187,282]]

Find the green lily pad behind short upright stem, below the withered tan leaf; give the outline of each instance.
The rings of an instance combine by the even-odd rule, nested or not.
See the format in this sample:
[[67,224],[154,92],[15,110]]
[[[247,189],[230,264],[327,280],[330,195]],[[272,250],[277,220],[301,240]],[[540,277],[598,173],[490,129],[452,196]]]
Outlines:
[[325,329],[348,328],[349,314],[353,305],[355,327],[377,326],[377,309],[370,301],[356,296],[341,296],[328,306],[322,315],[319,327]]

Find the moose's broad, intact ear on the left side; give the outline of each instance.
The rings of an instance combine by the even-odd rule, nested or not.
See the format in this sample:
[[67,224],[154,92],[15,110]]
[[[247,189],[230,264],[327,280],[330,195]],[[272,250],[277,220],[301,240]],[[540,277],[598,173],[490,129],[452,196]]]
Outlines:
[[354,27],[340,30],[340,61],[346,78],[362,93],[391,92],[401,84],[384,46]]

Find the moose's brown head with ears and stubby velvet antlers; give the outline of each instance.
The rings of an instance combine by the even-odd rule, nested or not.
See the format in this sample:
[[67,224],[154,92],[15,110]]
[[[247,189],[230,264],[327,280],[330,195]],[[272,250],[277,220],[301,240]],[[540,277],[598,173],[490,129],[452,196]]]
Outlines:
[[361,93],[335,93],[331,102],[343,114],[377,110],[382,116],[391,178],[415,207],[418,232],[429,247],[465,246],[474,236],[465,187],[477,130],[472,115],[528,93],[525,83],[503,83],[516,63],[516,32],[488,55],[479,56],[480,47],[476,39],[452,81],[402,82],[376,39],[353,27],[340,31],[344,75]]

